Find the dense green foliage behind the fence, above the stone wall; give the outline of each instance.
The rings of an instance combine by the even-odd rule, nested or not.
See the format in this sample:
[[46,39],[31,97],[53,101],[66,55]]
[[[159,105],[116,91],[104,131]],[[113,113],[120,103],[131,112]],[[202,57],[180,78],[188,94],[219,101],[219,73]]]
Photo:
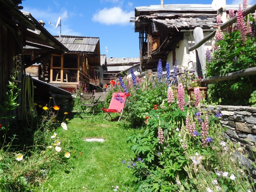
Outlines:
[[[217,41],[212,62],[207,63],[207,76],[225,75],[238,70],[256,67],[256,36],[241,39],[239,31],[227,33]],[[221,98],[223,105],[248,105],[250,93],[256,90],[256,76],[244,76],[234,80],[215,82],[209,85],[211,101]]]

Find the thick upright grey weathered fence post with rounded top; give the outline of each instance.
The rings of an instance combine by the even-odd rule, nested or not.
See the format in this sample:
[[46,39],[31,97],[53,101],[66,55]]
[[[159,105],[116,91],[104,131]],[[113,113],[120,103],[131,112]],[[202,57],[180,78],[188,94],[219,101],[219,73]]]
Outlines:
[[[201,27],[196,27],[194,32],[195,44],[198,44],[204,38],[204,32]],[[206,61],[205,61],[205,50],[204,44],[196,49],[196,72],[198,76],[204,77],[206,70]]]

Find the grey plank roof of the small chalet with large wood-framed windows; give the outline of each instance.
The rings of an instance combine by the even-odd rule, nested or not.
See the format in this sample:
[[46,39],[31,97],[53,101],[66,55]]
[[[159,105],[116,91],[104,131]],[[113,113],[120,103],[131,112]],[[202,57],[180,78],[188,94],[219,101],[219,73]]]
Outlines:
[[61,35],[54,36],[61,44],[63,44],[69,52],[77,53],[93,53],[96,49],[96,45],[99,42],[99,38],[95,37],[81,37]]

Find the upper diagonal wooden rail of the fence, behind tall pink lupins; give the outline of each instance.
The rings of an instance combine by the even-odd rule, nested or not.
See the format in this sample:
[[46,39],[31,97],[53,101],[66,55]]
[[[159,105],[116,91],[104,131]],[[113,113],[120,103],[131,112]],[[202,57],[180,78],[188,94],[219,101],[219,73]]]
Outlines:
[[[243,12],[243,16],[245,17],[246,15],[254,12],[256,10],[256,4],[254,4],[253,6],[250,6],[249,8],[245,9]],[[220,27],[221,30],[226,29],[228,26],[231,26],[233,23],[236,22],[236,17],[231,18],[230,20],[228,20],[226,23],[223,23]],[[216,29],[217,30],[217,29]],[[201,41],[199,41],[197,44],[195,44],[192,47],[189,47],[189,51],[193,51],[195,49],[197,49],[198,47],[200,47],[202,44],[204,44],[206,41],[208,41],[210,38],[213,38],[216,30],[211,32],[209,35],[207,35],[205,38],[203,38]]]

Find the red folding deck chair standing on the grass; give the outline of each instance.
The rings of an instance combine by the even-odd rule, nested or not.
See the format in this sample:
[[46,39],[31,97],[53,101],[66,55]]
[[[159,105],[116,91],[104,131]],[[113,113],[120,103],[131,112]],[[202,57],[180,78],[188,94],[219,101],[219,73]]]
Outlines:
[[104,117],[103,121],[105,120],[105,118],[109,115],[112,118],[112,116],[110,115],[110,113],[119,113],[119,119],[118,121],[121,119],[122,116],[122,112],[123,109],[125,107],[125,100],[126,100],[126,95],[125,93],[113,93],[111,102],[109,104],[108,109],[103,109],[103,111],[105,111],[107,114]]

